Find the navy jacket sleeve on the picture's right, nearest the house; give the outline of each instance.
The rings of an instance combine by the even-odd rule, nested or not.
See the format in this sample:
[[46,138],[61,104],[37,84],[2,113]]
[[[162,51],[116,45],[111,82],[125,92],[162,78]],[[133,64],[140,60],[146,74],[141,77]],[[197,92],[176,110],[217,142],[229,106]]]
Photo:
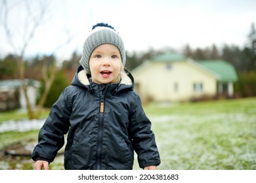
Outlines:
[[160,154],[156,146],[155,135],[151,130],[151,122],[142,108],[139,95],[135,96],[129,113],[133,148],[138,155],[140,168],[160,165]]

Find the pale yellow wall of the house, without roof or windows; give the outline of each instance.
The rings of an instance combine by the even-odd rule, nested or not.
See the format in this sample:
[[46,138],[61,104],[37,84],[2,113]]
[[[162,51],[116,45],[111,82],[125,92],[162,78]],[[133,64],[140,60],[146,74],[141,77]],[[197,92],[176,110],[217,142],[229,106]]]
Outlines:
[[[203,71],[196,65],[187,61],[169,63],[150,63],[144,69],[133,74],[135,84],[139,84],[142,100],[154,99],[155,101],[186,101],[200,95],[215,95],[217,82],[213,75]],[[175,92],[174,84],[178,84]],[[194,93],[194,82],[203,84],[202,93]]]

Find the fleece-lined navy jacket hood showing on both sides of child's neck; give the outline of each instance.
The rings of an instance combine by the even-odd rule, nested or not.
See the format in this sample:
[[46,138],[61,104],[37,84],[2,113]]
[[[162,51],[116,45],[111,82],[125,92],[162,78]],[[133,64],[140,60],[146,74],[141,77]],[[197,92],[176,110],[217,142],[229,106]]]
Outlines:
[[[83,69],[83,67],[80,65],[77,68],[77,71],[76,71],[75,76],[71,82],[71,85],[85,87],[85,88],[88,88],[89,90],[91,90],[91,87],[90,87],[91,82],[89,80],[90,77],[91,77],[91,75],[86,73],[85,69]],[[125,72],[121,73],[121,81],[119,83],[119,86],[120,86],[119,88],[133,89],[134,78],[131,75],[131,73],[129,71],[127,71],[126,69],[125,69]]]

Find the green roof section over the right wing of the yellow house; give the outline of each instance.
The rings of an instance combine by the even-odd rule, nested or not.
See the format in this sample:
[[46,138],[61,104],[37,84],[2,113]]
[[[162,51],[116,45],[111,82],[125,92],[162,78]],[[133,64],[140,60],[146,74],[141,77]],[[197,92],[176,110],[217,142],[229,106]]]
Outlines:
[[238,76],[236,75],[236,70],[234,69],[234,66],[230,63],[227,63],[226,61],[203,60],[198,61],[198,63],[200,63],[200,65],[203,65],[203,67],[220,75],[221,78],[219,78],[219,81],[221,82],[234,82],[238,80]]

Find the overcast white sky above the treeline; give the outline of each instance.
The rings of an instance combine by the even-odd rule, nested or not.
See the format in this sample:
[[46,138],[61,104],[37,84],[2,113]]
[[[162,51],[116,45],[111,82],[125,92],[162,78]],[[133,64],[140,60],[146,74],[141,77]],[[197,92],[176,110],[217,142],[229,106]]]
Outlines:
[[[39,0],[27,0],[33,15],[39,12]],[[42,0],[45,2],[46,0]],[[1,1],[0,1],[1,2]],[[21,0],[8,0],[9,27],[16,46],[24,42],[30,22]],[[106,22],[115,27],[128,52],[146,51],[152,47],[181,50],[204,48],[216,44],[244,46],[251,24],[256,26],[255,0],[48,0],[45,18],[28,44],[26,56],[51,54],[68,58],[76,50],[81,53],[85,36],[93,25]],[[1,5],[0,5],[1,6]],[[0,57],[12,48],[3,31],[3,8],[0,8]],[[28,30],[24,30],[27,27]],[[68,35],[74,39],[63,46]],[[58,48],[58,49],[57,49]]]

